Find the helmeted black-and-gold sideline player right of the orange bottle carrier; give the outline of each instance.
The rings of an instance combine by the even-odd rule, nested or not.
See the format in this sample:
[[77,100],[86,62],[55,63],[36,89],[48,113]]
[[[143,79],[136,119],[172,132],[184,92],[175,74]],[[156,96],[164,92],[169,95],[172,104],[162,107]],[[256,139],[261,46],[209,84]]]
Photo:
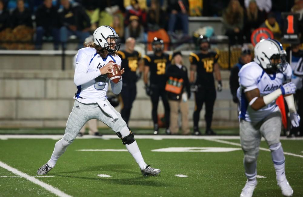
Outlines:
[[[205,121],[206,121],[206,135],[215,135],[211,129],[211,121],[213,116],[213,109],[216,99],[215,78],[218,80],[218,92],[222,90],[221,74],[218,64],[219,55],[210,50],[210,43],[208,37],[202,35],[198,38],[199,53],[190,53],[189,61],[190,76],[189,82],[191,89],[195,92],[195,110],[193,114],[194,120],[194,135],[201,135],[198,123],[200,119],[200,111],[203,103],[205,103]],[[195,73],[197,77],[195,80]]]

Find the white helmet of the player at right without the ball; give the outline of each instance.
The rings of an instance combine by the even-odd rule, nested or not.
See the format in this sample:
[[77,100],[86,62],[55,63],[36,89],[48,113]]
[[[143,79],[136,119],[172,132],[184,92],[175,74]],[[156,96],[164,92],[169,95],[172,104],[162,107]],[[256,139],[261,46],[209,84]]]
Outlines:
[[[279,62],[280,59],[281,62]],[[271,60],[276,61],[273,63]],[[262,66],[263,69],[271,72],[283,71],[288,64],[286,51],[283,50],[282,44],[271,38],[262,39],[256,44],[254,61]]]

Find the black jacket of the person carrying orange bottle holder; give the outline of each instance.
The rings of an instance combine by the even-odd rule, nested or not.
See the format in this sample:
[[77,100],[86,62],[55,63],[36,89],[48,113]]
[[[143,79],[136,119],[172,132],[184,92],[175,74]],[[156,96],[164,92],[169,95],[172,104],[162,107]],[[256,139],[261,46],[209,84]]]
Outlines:
[[175,100],[178,101],[181,99],[182,93],[184,92],[186,88],[187,96],[190,98],[191,92],[190,92],[190,85],[187,75],[187,69],[185,66],[182,66],[181,69],[176,65],[169,65],[166,73],[165,73],[167,80],[169,77],[174,77],[178,79],[183,79],[183,89],[179,95],[174,94],[172,92],[167,92],[167,96],[169,100]]

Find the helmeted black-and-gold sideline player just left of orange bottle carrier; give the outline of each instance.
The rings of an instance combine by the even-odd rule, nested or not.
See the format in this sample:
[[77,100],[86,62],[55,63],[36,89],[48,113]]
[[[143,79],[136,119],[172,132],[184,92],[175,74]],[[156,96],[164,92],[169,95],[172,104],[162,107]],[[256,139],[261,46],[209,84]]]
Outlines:
[[[165,109],[165,126],[166,126],[166,134],[170,134],[169,131],[169,104],[167,95],[165,92],[165,84],[166,84],[166,70],[167,66],[171,62],[171,55],[163,53],[164,43],[160,38],[154,38],[152,42],[152,48],[154,54],[145,55],[144,59],[144,83],[146,94],[151,97],[152,103],[152,119],[154,122],[154,134],[158,134],[158,103],[159,97],[161,96],[164,109]],[[148,85],[148,73],[149,75],[149,85]]]

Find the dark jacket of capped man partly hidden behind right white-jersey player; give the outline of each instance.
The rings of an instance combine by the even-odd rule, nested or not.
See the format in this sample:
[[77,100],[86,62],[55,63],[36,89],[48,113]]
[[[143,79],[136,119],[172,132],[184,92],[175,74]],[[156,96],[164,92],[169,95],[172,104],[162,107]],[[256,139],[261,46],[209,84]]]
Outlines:
[[235,66],[230,70],[229,87],[232,95],[232,100],[235,103],[238,102],[237,89],[240,86],[238,73],[243,65],[244,63],[242,62],[241,57],[239,57],[239,62],[236,63]]

